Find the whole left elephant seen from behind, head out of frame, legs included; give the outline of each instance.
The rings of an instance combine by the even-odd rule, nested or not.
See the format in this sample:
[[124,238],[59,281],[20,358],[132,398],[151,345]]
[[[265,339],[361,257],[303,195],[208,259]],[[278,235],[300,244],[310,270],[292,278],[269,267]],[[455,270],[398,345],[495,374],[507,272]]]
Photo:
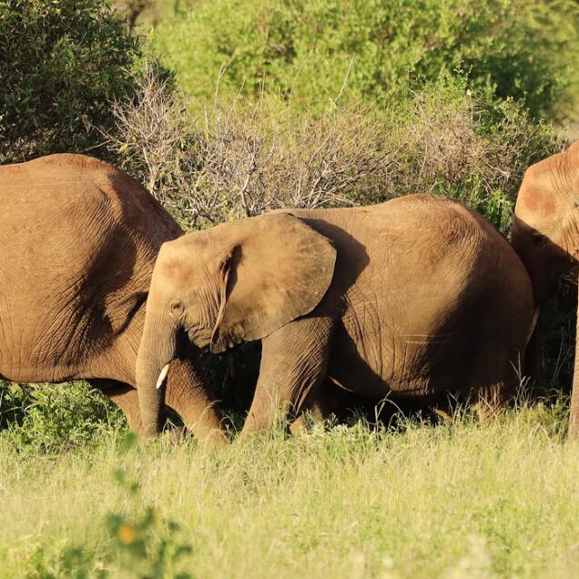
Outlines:
[[[150,401],[135,390],[135,365],[148,286],[159,248],[181,234],[137,181],[95,158],[0,167],[0,378],[87,380],[140,430],[139,396]],[[182,353],[168,405],[199,437],[224,440],[215,398]]]

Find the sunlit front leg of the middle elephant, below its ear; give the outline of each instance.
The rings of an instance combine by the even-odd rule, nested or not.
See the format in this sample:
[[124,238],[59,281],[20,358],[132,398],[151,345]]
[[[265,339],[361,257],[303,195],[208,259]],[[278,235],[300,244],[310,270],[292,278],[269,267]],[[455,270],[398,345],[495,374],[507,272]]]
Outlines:
[[258,384],[240,438],[250,432],[268,432],[288,414],[316,405],[334,325],[326,317],[303,318],[262,341]]

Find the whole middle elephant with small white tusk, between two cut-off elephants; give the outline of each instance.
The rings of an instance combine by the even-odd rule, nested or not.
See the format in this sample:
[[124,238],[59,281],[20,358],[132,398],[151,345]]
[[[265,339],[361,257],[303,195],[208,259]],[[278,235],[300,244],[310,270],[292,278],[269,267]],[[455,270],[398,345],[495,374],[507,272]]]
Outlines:
[[183,334],[213,352],[262,340],[242,434],[269,430],[278,411],[323,415],[326,380],[374,400],[499,406],[532,310],[513,249],[448,198],[278,211],[189,233],[163,245],[153,272],[137,359],[150,392],[143,421],[157,430],[156,384]]

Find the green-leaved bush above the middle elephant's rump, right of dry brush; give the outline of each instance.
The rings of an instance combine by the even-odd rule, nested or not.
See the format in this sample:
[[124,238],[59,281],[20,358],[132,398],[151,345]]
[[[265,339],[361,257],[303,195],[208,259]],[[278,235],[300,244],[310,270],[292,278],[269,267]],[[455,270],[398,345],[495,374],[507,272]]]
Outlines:
[[[389,113],[384,138],[397,151],[390,188],[375,200],[409,193],[458,198],[506,234],[523,174],[555,152],[552,127],[523,102],[443,74]],[[374,199],[371,199],[374,200]],[[361,199],[368,203],[369,199]]]

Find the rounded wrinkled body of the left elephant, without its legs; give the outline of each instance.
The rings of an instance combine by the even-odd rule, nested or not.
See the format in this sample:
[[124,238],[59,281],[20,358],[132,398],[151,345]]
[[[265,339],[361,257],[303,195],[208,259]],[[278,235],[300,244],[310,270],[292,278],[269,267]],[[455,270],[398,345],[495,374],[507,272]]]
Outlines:
[[67,344],[106,349],[146,300],[160,246],[180,234],[145,188],[98,159],[0,168],[0,320],[17,329],[24,365],[74,365]]

